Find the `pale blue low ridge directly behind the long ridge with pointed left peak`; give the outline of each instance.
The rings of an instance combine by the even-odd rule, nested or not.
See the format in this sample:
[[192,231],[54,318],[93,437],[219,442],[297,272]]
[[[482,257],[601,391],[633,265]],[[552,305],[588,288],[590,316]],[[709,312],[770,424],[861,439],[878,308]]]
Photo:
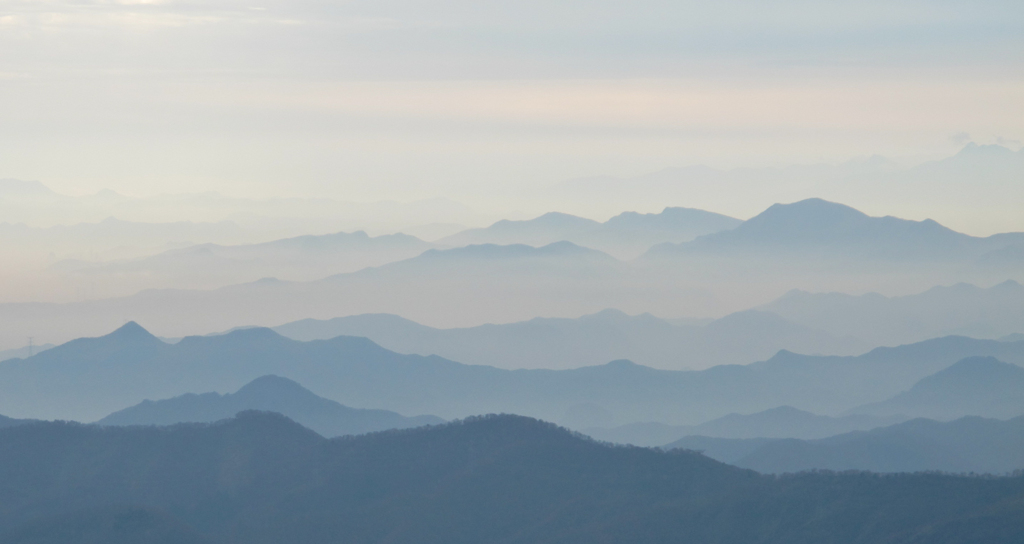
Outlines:
[[696,369],[764,360],[783,348],[855,354],[868,347],[855,338],[835,338],[764,311],[681,325],[649,313],[627,316],[607,309],[579,319],[536,318],[464,329],[436,329],[377,313],[302,320],[273,330],[296,340],[364,336],[400,353],[436,354],[510,369],[567,369],[615,359],[656,368]]

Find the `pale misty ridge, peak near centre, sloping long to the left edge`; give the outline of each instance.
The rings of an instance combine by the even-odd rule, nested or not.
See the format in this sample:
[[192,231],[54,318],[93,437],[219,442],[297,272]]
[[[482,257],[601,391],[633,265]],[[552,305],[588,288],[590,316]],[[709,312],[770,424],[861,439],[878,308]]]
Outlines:
[[[611,285],[616,289],[609,291]],[[19,346],[38,331],[47,331],[47,341],[93,336],[125,318],[152,323],[168,337],[339,312],[400,313],[449,327],[557,316],[581,305],[586,313],[638,299],[668,303],[698,296],[707,299],[687,289],[667,292],[645,285],[625,263],[567,242],[541,248],[483,245],[428,250],[312,282],[264,279],[213,291],[147,290],[76,303],[0,304],[0,324],[10,325],[0,327],[0,342]]]

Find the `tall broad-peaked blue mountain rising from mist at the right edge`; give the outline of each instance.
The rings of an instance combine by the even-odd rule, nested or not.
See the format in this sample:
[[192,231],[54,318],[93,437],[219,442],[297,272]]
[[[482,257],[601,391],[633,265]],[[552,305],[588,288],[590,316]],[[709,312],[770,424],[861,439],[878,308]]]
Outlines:
[[[970,237],[932,220],[872,217],[809,199],[774,205],[731,231],[654,246],[634,264],[654,283],[684,277],[724,300],[776,298],[794,289],[902,296],[925,286],[1024,281],[1012,261],[995,265],[986,257],[1022,238]],[[750,305],[768,302],[762,300]]]

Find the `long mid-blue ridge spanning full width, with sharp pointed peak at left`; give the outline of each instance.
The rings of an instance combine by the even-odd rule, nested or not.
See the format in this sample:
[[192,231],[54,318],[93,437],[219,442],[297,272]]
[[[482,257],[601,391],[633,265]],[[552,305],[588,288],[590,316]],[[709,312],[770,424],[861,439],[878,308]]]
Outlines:
[[0,365],[0,413],[93,421],[146,399],[236,390],[267,374],[360,408],[455,419],[519,413],[574,428],[692,425],[782,405],[836,415],[881,402],[971,355],[1024,363],[1024,342],[948,337],[858,357],[780,351],[757,364],[656,370],[617,361],[572,370],[503,370],[399,354],[365,338],[300,342],[269,329],[175,344],[134,323]]

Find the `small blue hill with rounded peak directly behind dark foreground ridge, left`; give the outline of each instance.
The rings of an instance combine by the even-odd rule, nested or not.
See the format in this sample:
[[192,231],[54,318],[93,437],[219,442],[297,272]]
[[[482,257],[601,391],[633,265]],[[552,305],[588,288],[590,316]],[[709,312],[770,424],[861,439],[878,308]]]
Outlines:
[[280,376],[263,376],[233,393],[182,394],[164,401],[143,401],[119,410],[100,425],[171,425],[212,422],[239,412],[278,412],[324,436],[364,434],[378,430],[436,425],[434,416],[404,417],[387,410],[359,410],[317,396],[298,383]]

